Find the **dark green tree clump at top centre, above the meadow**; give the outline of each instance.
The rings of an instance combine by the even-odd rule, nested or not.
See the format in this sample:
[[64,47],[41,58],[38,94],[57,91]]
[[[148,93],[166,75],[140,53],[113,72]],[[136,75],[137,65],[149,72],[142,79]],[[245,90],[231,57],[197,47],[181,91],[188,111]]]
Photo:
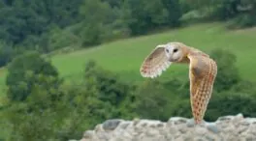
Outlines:
[[177,0],[127,0],[124,2],[128,26],[133,35],[145,34],[161,26],[177,26],[181,16]]

